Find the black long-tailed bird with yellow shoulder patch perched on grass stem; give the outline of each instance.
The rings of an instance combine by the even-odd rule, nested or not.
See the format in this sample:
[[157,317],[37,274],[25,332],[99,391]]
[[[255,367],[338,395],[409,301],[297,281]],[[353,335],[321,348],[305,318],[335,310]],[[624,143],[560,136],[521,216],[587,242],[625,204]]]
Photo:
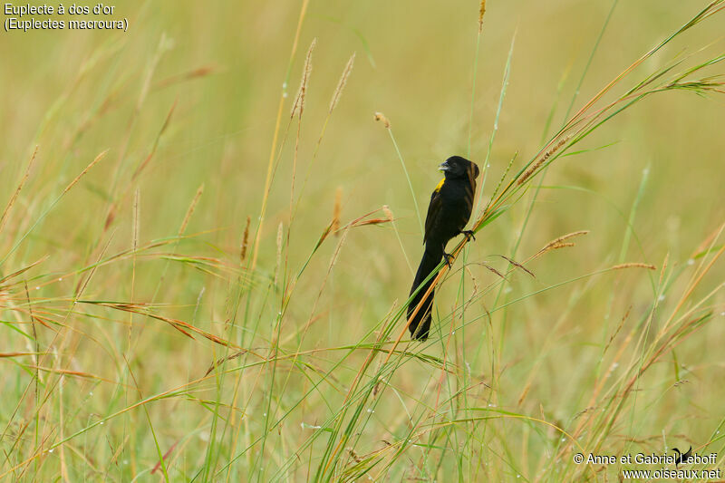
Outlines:
[[[476,163],[460,156],[452,156],[440,165],[445,178],[440,180],[438,186],[430,195],[428,215],[425,217],[425,234],[423,244],[425,251],[415,274],[411,295],[419,288],[419,285],[428,278],[430,272],[440,264],[440,259],[445,257],[448,263],[449,254],[446,253],[446,244],[449,239],[459,234],[473,237],[473,232],[463,231],[463,227],[469,222],[470,213],[473,210],[473,197],[476,194],[476,177],[478,177],[478,166]],[[420,304],[423,295],[428,291],[433,278],[420,286],[420,290],[408,305],[408,318],[415,312]],[[413,339],[425,340],[430,330],[430,311],[433,304],[435,289],[430,291],[420,310],[411,319],[408,328]]]

